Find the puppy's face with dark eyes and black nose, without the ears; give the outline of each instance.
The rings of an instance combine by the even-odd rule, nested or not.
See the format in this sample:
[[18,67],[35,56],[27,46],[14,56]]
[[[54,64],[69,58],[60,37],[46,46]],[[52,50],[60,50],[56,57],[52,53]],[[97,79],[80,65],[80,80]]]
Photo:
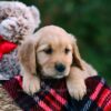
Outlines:
[[71,40],[65,34],[44,33],[37,48],[37,61],[44,77],[62,78],[72,63]]

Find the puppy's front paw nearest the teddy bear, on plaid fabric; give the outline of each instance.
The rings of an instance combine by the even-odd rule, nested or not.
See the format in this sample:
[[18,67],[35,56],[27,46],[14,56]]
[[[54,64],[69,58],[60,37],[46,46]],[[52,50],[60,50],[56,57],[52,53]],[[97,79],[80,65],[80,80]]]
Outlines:
[[28,94],[33,94],[40,90],[40,79],[37,77],[23,77],[22,87]]

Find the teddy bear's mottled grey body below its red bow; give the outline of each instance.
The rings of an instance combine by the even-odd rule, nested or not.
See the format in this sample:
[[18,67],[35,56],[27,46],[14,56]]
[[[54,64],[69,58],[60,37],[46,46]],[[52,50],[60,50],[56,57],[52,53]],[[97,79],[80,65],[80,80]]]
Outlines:
[[3,54],[0,60],[0,80],[8,80],[16,74],[20,74],[20,65],[18,61],[18,49],[8,54]]

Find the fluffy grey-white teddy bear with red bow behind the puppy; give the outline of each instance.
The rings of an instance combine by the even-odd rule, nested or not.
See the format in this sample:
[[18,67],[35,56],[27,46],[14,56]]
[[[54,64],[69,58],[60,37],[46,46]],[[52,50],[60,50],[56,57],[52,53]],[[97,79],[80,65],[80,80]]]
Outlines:
[[18,1],[0,1],[0,80],[20,74],[18,46],[40,24],[39,10]]

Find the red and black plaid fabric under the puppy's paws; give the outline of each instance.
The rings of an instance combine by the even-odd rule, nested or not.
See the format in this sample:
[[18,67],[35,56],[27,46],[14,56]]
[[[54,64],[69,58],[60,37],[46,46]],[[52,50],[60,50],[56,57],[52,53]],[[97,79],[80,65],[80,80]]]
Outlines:
[[72,99],[65,79],[43,80],[33,97],[22,91],[22,77],[0,81],[23,111],[111,111],[111,88],[100,77],[85,80],[88,93],[81,101]]

